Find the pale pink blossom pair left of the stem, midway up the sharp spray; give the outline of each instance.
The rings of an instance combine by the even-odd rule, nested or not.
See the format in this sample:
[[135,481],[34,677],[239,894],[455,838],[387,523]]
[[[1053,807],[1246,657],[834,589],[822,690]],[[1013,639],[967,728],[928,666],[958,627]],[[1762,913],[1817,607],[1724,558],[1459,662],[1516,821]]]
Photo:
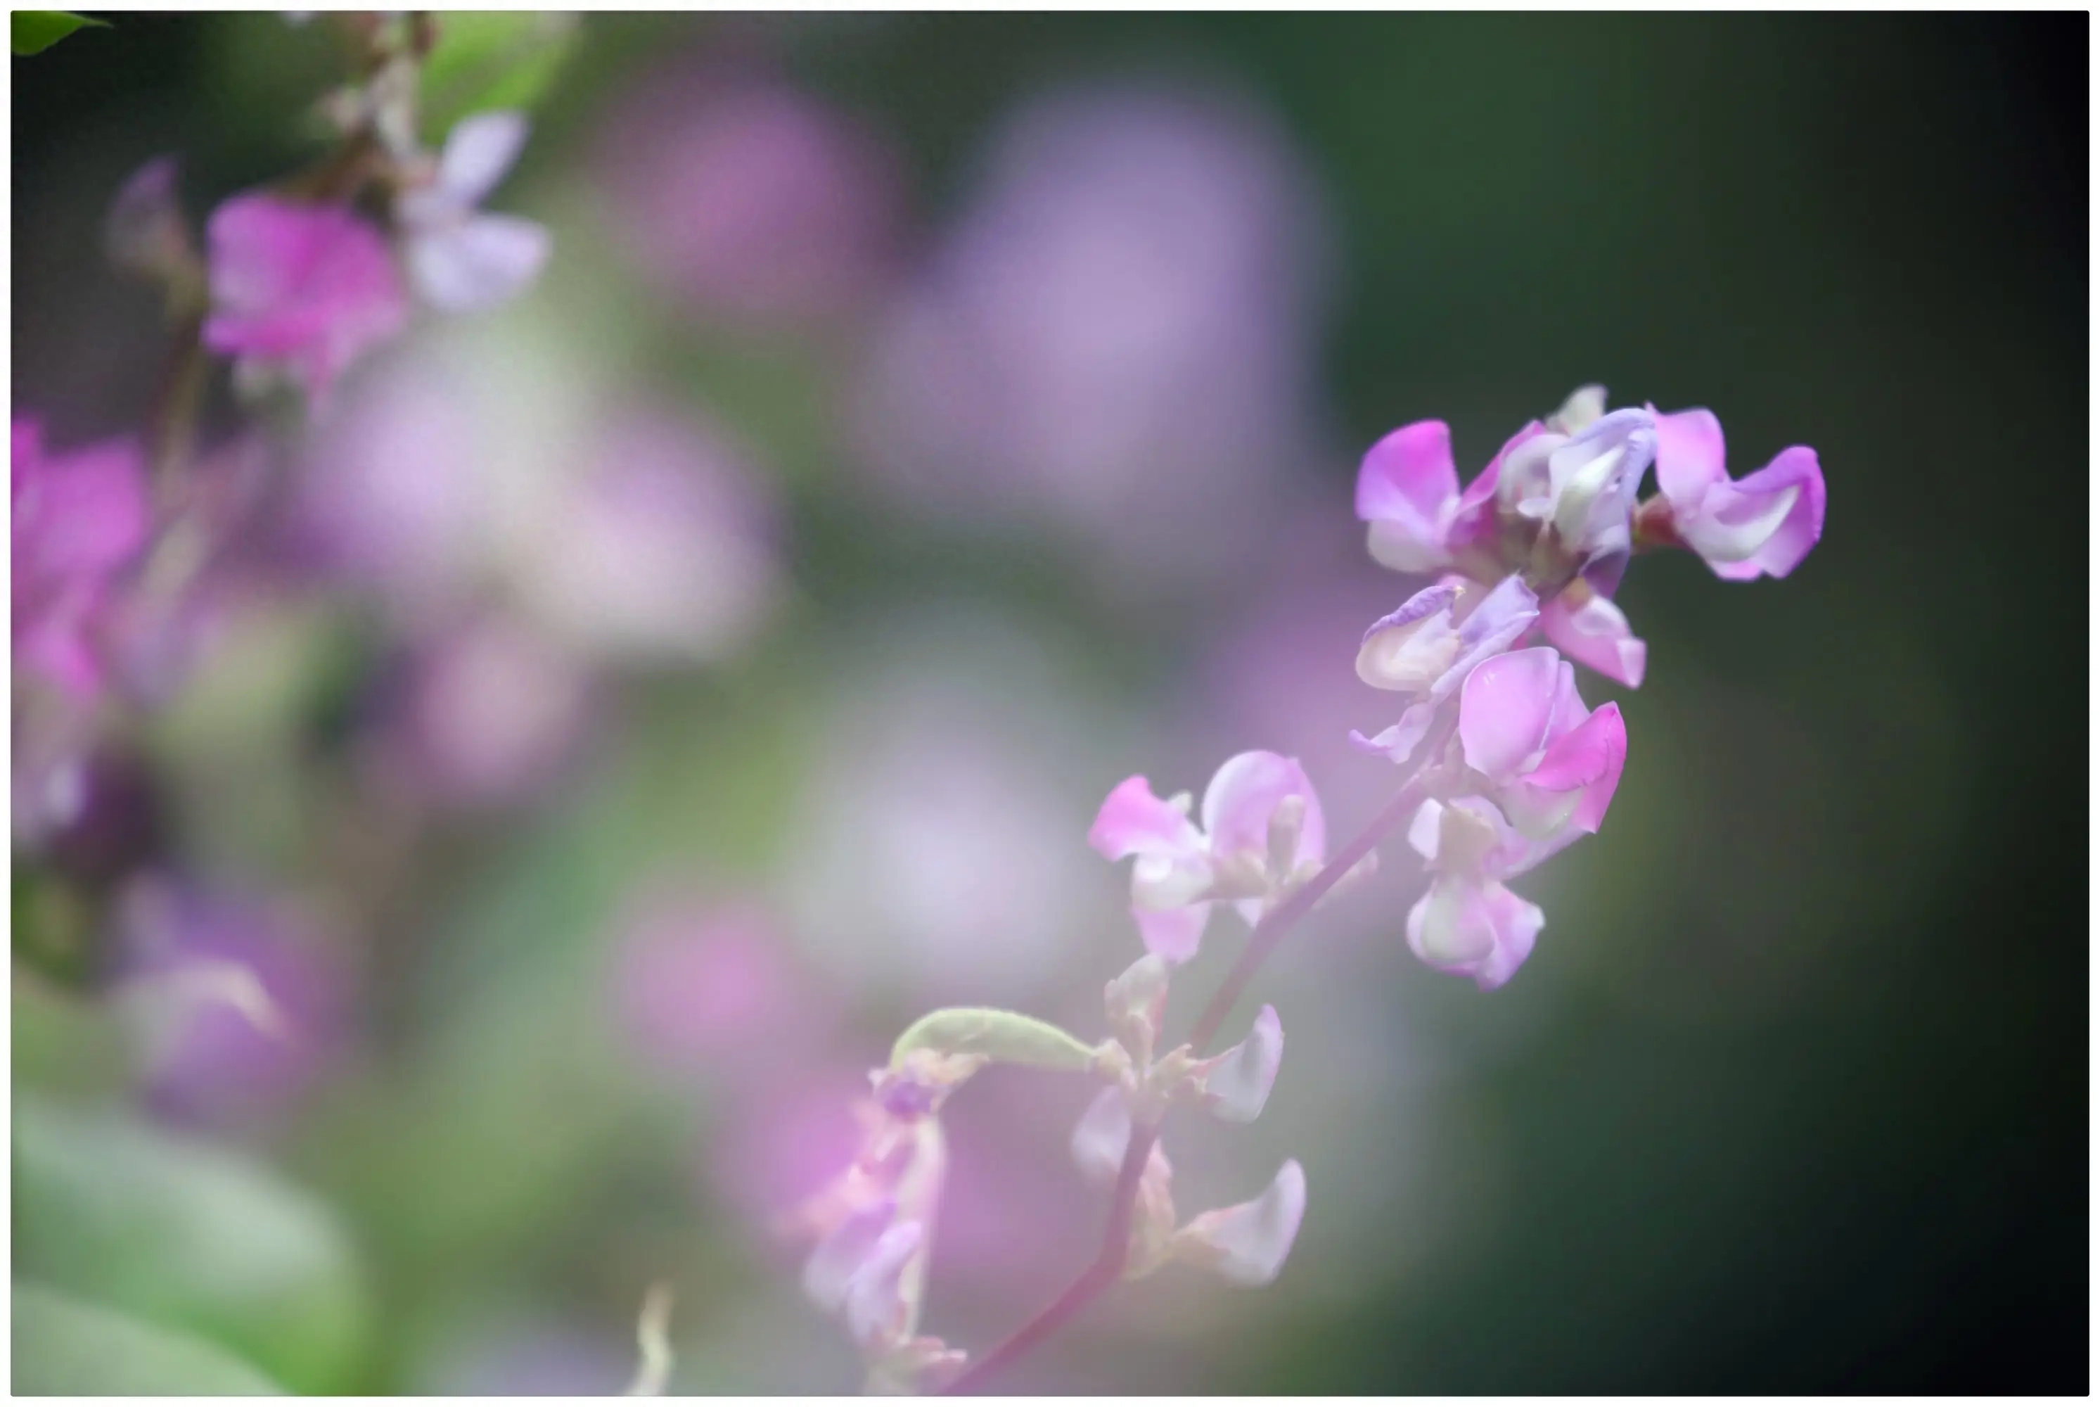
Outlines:
[[1189,802],[1186,794],[1159,800],[1144,777],[1130,777],[1109,792],[1088,832],[1102,857],[1138,857],[1130,911],[1144,947],[1168,962],[1195,956],[1214,901],[1235,903],[1254,924],[1327,855],[1319,796],[1296,758],[1226,758],[1203,792],[1201,827],[1189,819]]

